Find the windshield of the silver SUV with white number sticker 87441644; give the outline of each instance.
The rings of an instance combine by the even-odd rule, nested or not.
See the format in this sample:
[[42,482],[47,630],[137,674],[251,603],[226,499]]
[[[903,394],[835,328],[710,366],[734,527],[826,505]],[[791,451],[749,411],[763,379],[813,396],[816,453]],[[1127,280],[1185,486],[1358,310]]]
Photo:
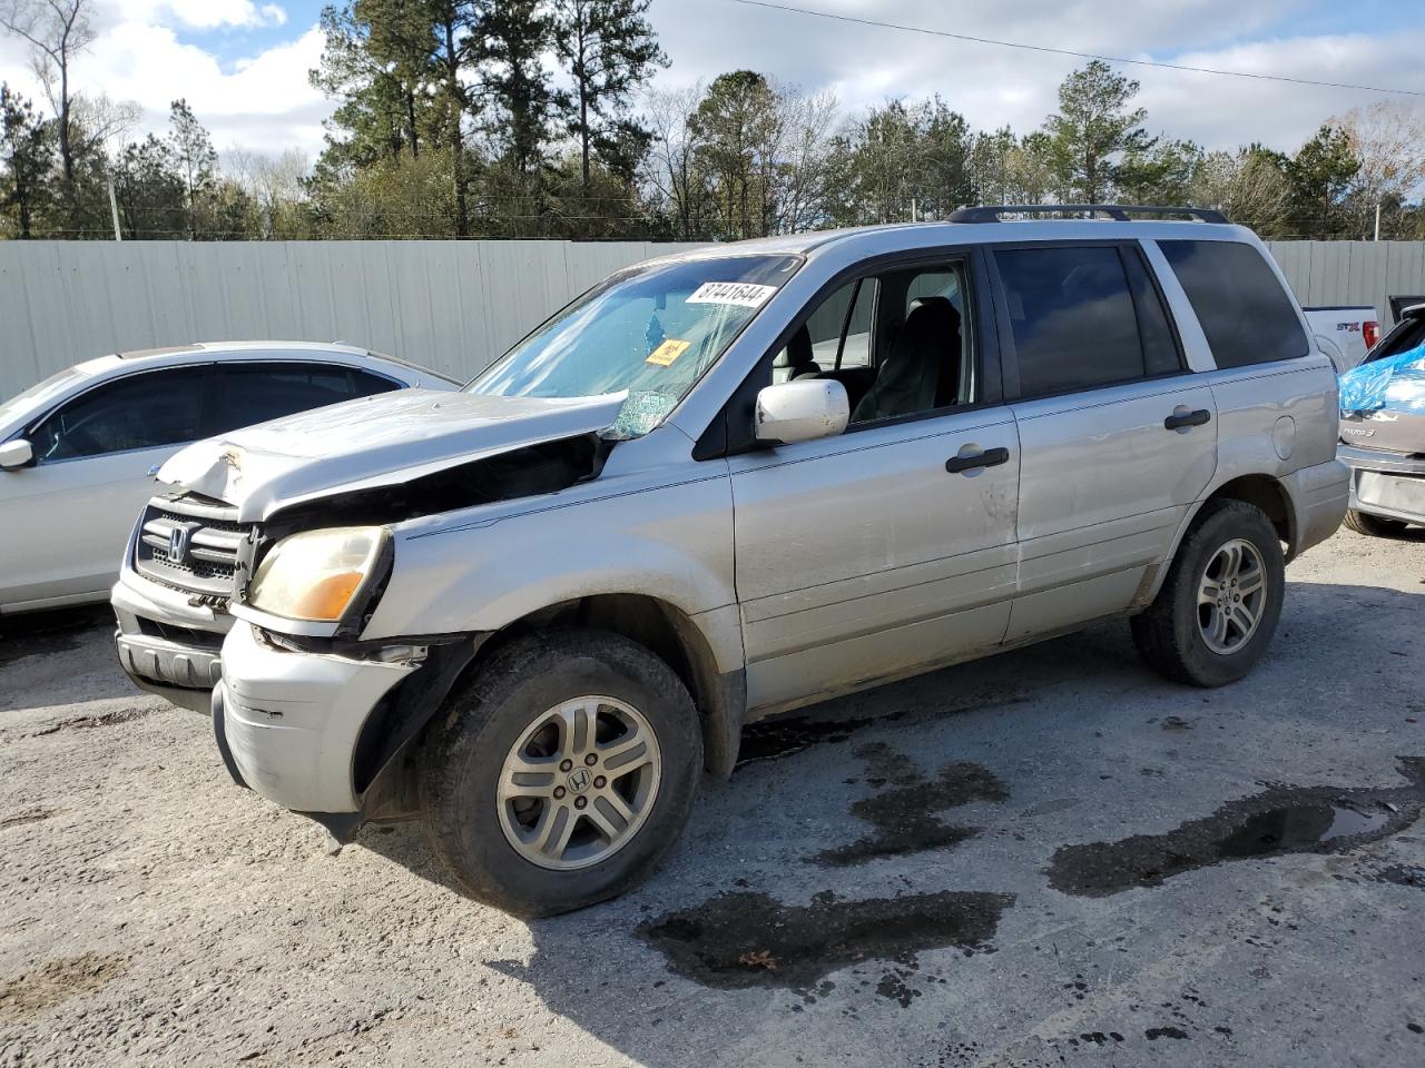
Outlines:
[[801,266],[720,256],[633,268],[574,300],[465,389],[500,397],[628,392],[623,433],[647,433]]

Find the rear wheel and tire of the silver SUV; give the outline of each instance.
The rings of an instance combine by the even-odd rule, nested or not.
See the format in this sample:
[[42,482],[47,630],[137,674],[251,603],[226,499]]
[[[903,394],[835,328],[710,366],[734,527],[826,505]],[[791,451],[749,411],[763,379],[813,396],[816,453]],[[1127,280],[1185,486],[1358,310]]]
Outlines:
[[1284,591],[1281,541],[1267,515],[1243,501],[1208,501],[1153,604],[1133,618],[1133,641],[1166,678],[1223,686],[1261,658]]

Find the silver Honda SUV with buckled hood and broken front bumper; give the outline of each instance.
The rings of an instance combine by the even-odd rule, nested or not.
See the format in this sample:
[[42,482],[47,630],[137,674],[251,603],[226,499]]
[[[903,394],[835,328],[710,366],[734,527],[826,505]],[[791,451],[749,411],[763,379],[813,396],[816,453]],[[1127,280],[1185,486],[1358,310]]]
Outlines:
[[1347,507],[1335,375],[1250,231],[1099,214],[653,259],[462,393],[190,447],[234,779],[547,914],[646,876],[751,719],[1109,617],[1240,679]]

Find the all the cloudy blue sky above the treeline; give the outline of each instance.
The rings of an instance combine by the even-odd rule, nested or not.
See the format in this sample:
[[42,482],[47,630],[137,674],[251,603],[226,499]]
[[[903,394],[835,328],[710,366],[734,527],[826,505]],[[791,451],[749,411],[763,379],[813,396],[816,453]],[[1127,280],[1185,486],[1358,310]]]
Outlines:
[[[1425,93],[1418,0],[788,0],[878,19],[1062,48]],[[76,66],[81,91],[133,100],[140,131],[187,97],[219,150],[315,155],[332,103],[306,71],[321,56],[318,0],[94,0],[103,34]],[[653,0],[673,66],[658,85],[750,67],[831,93],[854,114],[939,93],[976,127],[1027,131],[1080,61],[808,19],[731,0]],[[1294,150],[1328,117],[1382,97],[1348,90],[1129,68],[1149,127],[1208,147]],[[0,80],[40,95],[23,47],[0,38]],[[1384,97],[1425,108],[1425,97]]]

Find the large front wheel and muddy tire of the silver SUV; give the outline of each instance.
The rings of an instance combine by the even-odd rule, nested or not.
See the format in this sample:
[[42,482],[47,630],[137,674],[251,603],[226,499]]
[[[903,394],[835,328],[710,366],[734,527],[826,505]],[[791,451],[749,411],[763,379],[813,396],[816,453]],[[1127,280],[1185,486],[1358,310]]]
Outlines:
[[469,897],[553,916],[643,880],[688,819],[697,712],[648,649],[550,631],[496,651],[432,725],[420,769],[430,846]]

